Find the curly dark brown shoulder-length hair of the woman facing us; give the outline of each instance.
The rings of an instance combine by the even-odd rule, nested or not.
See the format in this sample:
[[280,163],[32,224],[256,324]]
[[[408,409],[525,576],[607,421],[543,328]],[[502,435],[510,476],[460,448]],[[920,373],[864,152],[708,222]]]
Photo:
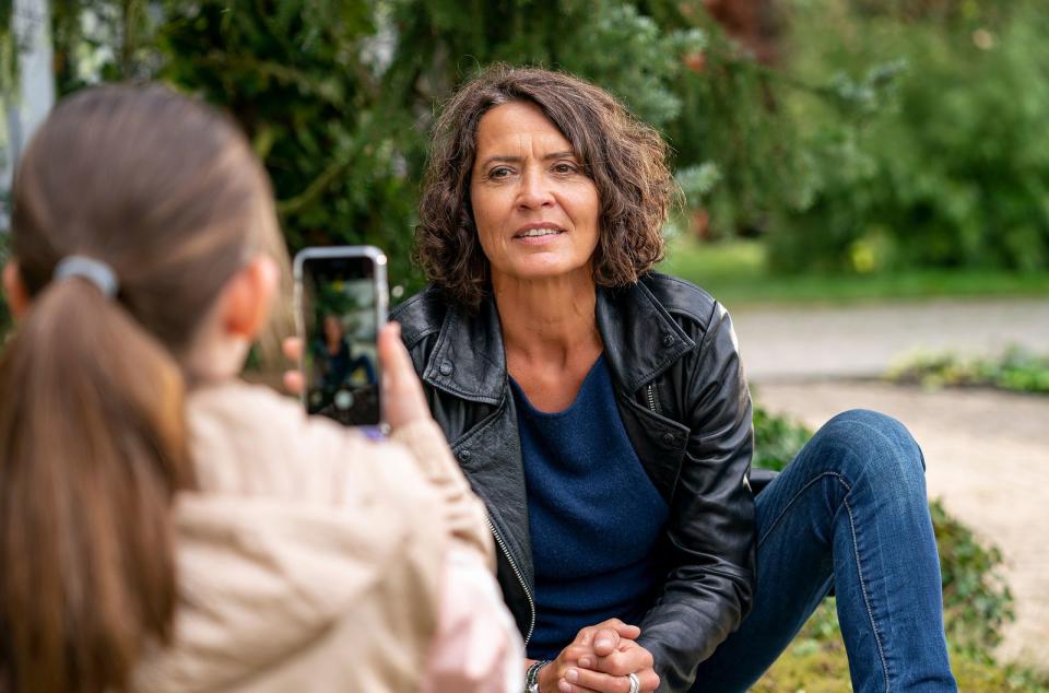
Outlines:
[[674,188],[667,145],[604,90],[570,74],[493,66],[463,85],[434,127],[419,205],[414,259],[448,295],[475,307],[490,281],[470,203],[478,125],[511,102],[539,106],[571,142],[598,188],[601,233],[593,278],[604,286],[636,282],[662,258],[662,225]]

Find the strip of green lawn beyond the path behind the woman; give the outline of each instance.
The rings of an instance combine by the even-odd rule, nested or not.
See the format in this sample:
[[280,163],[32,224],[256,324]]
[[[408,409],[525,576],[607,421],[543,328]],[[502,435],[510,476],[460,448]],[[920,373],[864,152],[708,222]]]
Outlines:
[[742,304],[920,299],[932,297],[1049,297],[1049,272],[908,270],[895,274],[774,274],[754,240],[700,244],[677,238],[659,271],[699,284],[730,308]]

